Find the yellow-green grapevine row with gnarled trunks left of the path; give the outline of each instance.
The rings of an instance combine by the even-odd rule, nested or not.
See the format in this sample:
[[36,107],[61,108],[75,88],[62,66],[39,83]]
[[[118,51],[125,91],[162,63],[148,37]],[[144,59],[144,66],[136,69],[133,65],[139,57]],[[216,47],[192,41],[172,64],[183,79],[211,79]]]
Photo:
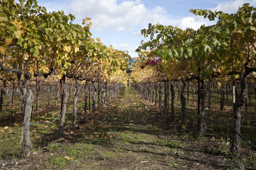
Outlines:
[[[131,58],[127,51],[108,47],[100,38],[94,40],[90,33],[90,18],[82,21],[83,26],[73,24],[75,16],[65,15],[63,11],[47,12],[36,0],[20,0],[19,3],[3,0],[0,4],[0,105],[1,109],[5,106],[3,99],[10,96],[10,91],[12,96],[15,92],[20,93],[20,114],[24,116],[20,143],[23,143],[22,156],[29,156],[32,150],[31,113],[38,110],[39,93],[43,90],[41,84],[47,84],[44,93],[49,94],[53,86],[48,84],[55,82],[55,103],[59,96],[61,101],[58,131],[61,137],[64,135],[68,90],[75,88],[72,98],[73,128],[76,128],[80,93],[84,92],[85,100],[92,95],[93,114],[96,95],[98,101],[108,101],[123,87],[121,83],[127,78],[125,69]],[[34,98],[36,108],[32,108]],[[14,105],[14,99],[10,100],[7,99],[6,105]],[[102,102],[98,102],[98,108]],[[84,122],[87,107],[85,101]]]

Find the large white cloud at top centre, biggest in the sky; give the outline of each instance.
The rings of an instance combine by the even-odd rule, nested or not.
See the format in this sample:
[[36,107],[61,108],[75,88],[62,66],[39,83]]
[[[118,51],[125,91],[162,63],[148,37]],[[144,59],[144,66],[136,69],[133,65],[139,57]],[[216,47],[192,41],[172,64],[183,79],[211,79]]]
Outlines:
[[123,1],[117,4],[117,0],[73,0],[69,3],[69,12],[78,20],[92,18],[92,29],[106,31],[115,29],[118,32],[133,31],[136,25],[148,23],[167,23],[167,11],[156,6],[146,8],[140,0]]

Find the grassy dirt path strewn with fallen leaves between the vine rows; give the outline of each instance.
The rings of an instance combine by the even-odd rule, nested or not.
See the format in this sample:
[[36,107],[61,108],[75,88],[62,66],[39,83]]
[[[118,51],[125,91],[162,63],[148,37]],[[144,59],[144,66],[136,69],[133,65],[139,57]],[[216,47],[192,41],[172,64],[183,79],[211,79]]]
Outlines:
[[30,158],[11,160],[3,169],[229,169],[224,156],[209,154],[204,140],[165,121],[137,91],[124,88],[79,130],[67,122],[65,138],[45,137]]

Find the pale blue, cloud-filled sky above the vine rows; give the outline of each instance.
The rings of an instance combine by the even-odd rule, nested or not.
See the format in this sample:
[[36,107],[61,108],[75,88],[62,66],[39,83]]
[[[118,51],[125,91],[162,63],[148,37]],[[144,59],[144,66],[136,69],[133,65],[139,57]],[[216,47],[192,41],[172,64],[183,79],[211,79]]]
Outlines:
[[91,18],[92,37],[115,49],[127,50],[131,57],[137,57],[135,49],[141,41],[141,29],[148,24],[172,25],[185,29],[198,29],[200,25],[212,25],[201,16],[195,16],[190,9],[203,9],[236,13],[243,3],[256,7],[256,0],[38,0],[38,5],[48,12],[63,10],[66,15],[75,16],[74,24]]

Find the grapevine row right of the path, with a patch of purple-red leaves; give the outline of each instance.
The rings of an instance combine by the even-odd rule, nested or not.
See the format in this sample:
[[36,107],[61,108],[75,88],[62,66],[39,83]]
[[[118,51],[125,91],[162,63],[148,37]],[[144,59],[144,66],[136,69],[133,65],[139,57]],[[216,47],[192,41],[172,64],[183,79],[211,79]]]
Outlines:
[[[178,83],[183,126],[186,123],[184,91],[188,82],[192,82],[192,86],[197,88],[197,130],[201,134],[204,134],[206,125],[207,89],[209,90],[209,86],[213,84],[219,84],[221,98],[223,97],[222,101],[224,101],[224,84],[231,84],[234,135],[230,151],[233,155],[240,156],[242,110],[246,105],[248,91],[250,91],[249,100],[252,92],[255,91],[256,8],[246,3],[235,14],[210,10],[190,11],[217,22],[209,26],[201,25],[198,30],[191,28],[183,30],[159,23],[149,24],[141,33],[144,37],[150,36],[150,41],[142,42],[137,49],[139,58],[130,78],[134,86],[148,100],[156,101],[158,90],[152,91],[154,88],[164,91],[163,112],[166,112],[167,96],[169,90],[171,91],[170,119],[174,118],[174,86]],[[163,82],[160,83],[162,86],[156,85],[158,82]],[[162,94],[160,91],[159,93]]]

